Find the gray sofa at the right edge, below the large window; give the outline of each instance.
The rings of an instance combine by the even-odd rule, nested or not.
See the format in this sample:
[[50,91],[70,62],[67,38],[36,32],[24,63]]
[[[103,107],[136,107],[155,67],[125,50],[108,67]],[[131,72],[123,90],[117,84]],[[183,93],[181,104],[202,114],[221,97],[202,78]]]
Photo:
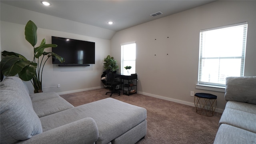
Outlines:
[[256,76],[227,77],[225,100],[214,144],[256,144]]

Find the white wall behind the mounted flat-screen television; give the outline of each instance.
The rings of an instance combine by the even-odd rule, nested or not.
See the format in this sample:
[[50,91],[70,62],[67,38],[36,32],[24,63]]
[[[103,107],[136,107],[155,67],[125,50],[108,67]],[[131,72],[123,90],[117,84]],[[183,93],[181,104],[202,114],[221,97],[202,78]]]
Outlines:
[[[35,16],[31,18],[32,21],[38,20],[36,18],[37,14],[38,13],[36,12],[34,13]],[[11,16],[12,15],[10,15],[10,17]],[[74,22],[74,24],[76,24],[76,22]],[[25,39],[25,24],[16,24],[13,22],[6,22],[1,20],[0,25],[1,52],[4,50],[10,52],[17,52],[32,61],[33,47]],[[36,23],[36,25],[38,24]],[[73,28],[77,28],[77,31],[80,29],[79,27]],[[84,25],[83,28],[86,29],[88,27]],[[38,46],[41,43],[43,38],[46,38],[46,43],[51,44],[51,36],[59,36],[64,38],[72,38],[77,40],[95,42],[96,64],[90,64],[90,66],[81,67],[59,67],[57,64],[52,64],[51,59],[48,60],[43,70],[42,87],[52,87],[57,86],[57,84],[60,84],[60,88],[45,88],[43,89],[44,92],[58,92],[59,94],[65,94],[103,87],[103,84],[100,80],[100,76],[103,72],[104,58],[106,58],[106,56],[110,54],[110,40],[56,30],[43,29],[40,27],[38,27],[37,34],[38,42],[36,46]],[[51,48],[48,48],[46,50],[51,51]],[[28,84],[30,93],[33,93],[34,88],[31,82],[26,82],[26,84]]]

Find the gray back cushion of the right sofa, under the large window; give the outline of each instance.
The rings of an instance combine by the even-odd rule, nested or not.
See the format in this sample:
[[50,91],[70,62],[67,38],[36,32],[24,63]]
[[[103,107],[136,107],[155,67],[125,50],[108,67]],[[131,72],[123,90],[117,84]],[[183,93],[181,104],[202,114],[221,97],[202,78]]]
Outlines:
[[227,77],[225,100],[256,104],[256,76]]

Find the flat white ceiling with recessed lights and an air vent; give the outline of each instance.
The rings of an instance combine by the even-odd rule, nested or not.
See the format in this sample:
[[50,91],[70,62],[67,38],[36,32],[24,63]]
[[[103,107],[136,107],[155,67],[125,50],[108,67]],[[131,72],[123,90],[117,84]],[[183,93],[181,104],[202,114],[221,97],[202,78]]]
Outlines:
[[[120,31],[138,24],[182,12],[214,0],[1,0],[1,3],[105,28]],[[162,12],[157,16],[150,16]],[[108,22],[113,24],[109,25]]]

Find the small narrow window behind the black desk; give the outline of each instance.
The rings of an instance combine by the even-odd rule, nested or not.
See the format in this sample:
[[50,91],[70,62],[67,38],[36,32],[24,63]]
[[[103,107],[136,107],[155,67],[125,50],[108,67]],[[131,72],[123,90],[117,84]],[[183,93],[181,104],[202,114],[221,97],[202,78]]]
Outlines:
[[[126,70],[125,66],[132,66],[130,70]],[[136,68],[136,43],[130,42],[121,44],[121,74],[135,74]]]

